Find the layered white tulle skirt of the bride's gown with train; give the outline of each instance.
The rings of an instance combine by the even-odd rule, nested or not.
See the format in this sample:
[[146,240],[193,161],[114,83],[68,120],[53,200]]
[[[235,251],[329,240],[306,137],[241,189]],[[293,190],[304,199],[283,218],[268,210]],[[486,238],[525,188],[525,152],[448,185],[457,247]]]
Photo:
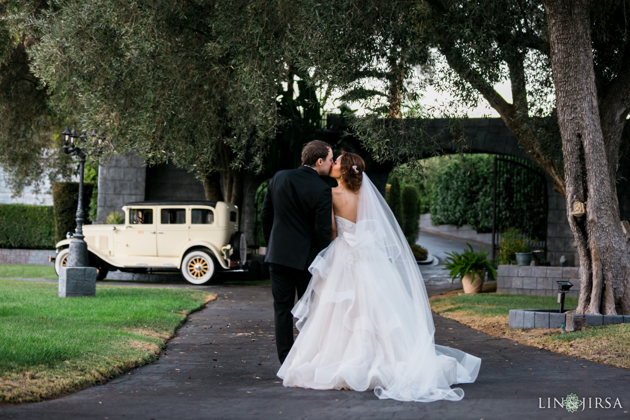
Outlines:
[[356,239],[337,237],[311,264],[311,283],[292,310],[300,333],[278,371],[284,386],[462,399],[450,385],[474,382],[481,359],[436,346],[428,302],[404,286],[386,253],[347,238]]

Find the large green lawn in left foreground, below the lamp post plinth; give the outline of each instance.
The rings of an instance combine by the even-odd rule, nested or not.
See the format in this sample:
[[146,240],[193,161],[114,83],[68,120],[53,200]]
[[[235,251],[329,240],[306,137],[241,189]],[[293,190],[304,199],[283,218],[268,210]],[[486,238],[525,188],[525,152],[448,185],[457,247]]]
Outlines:
[[0,297],[0,401],[26,402],[150,363],[216,295],[97,285],[96,297],[58,298],[56,284],[0,280]]

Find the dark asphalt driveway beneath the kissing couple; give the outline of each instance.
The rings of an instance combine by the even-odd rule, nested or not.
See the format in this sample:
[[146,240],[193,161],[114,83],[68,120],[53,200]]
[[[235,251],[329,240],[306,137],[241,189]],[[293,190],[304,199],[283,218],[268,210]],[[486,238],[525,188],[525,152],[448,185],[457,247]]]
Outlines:
[[[118,283],[118,282],[117,282]],[[450,285],[449,285],[450,286]],[[173,287],[173,286],[171,286]],[[175,287],[186,287],[176,285]],[[444,285],[444,287],[447,287]],[[444,288],[443,287],[443,288]],[[270,287],[195,287],[219,298],[190,315],[159,359],[59,399],[0,407],[0,419],[576,419],[627,418],[629,371],[494,338],[434,316],[435,342],[479,356],[458,402],[379,400],[374,393],[282,387]],[[440,292],[438,285],[428,287]],[[297,332],[297,331],[296,331]],[[587,409],[553,408],[586,397]],[[611,408],[595,398],[612,398]],[[619,398],[622,408],[612,408]],[[547,400],[547,399],[550,400]],[[551,409],[547,407],[551,402]],[[580,407],[581,409],[581,407]]]

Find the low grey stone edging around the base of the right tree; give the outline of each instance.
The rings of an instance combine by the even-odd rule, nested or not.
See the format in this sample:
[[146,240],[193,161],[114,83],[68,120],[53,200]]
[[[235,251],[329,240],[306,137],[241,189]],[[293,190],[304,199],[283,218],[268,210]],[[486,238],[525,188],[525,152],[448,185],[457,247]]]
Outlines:
[[[572,319],[568,320],[567,315]],[[630,324],[629,315],[560,314],[559,309],[510,309],[508,323],[513,329],[560,328],[563,322],[576,317],[583,317],[581,325]]]

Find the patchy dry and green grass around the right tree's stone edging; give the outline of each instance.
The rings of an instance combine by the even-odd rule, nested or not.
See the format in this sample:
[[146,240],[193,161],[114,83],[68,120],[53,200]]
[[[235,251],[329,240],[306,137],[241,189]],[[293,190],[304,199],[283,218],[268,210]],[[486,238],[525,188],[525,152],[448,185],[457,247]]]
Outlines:
[[[561,334],[560,329],[510,329],[510,309],[555,309],[556,297],[479,293],[459,296],[454,290],[430,298],[431,309],[464,325],[495,337],[544,348],[563,355],[583,358],[619,368],[630,368],[630,324],[585,327]],[[577,298],[566,298],[565,307],[575,308]]]

